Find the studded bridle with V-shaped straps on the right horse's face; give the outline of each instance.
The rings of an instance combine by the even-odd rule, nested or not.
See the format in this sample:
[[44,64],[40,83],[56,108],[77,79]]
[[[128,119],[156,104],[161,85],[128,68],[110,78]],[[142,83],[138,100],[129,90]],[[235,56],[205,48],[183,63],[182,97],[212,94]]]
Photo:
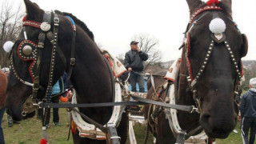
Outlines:
[[[228,53],[230,54],[231,61],[234,64],[234,67],[235,67],[235,70],[237,73],[237,77],[235,78],[235,82],[237,82],[237,84],[235,84],[234,90],[236,89],[236,86],[239,87],[239,85],[240,85],[239,82],[242,80],[242,62],[240,63],[241,66],[240,66],[240,70],[239,70],[238,61],[236,60],[236,58],[234,58],[234,53],[231,50],[229,43],[226,42],[225,34],[222,34],[222,35],[211,34],[212,40],[210,41],[210,46],[206,52],[206,56],[202,62],[202,66],[198,70],[198,73],[195,75],[195,77],[193,77],[192,68],[191,68],[191,64],[190,64],[190,30],[192,30],[194,25],[209,12],[207,10],[222,10],[222,8],[219,6],[204,6],[203,8],[196,10],[190,18],[190,22],[188,24],[187,31],[186,31],[186,38],[184,38],[185,49],[186,49],[186,66],[187,66],[187,70],[189,73],[189,75],[187,76],[187,82],[189,84],[190,90],[193,92],[193,98],[194,98],[194,101],[196,102],[196,106],[198,106],[198,110],[199,110],[198,112],[201,111],[201,104],[200,104],[200,98],[198,98],[198,95],[197,95],[197,90],[195,88],[195,85],[197,84],[198,79],[202,76],[202,74],[206,68],[207,62],[210,58],[210,54],[212,53],[215,42],[218,44],[224,43],[224,45],[226,46],[226,49],[228,50]],[[206,11],[206,13],[202,14],[205,11]],[[198,19],[194,20],[194,18],[196,18],[198,16],[198,14],[202,14],[202,15]],[[216,14],[214,14],[214,17],[215,18],[218,17],[218,14],[217,14],[217,16],[216,16]],[[238,30],[238,32],[240,33],[239,30]],[[246,38],[246,35],[242,35],[242,36]]]

